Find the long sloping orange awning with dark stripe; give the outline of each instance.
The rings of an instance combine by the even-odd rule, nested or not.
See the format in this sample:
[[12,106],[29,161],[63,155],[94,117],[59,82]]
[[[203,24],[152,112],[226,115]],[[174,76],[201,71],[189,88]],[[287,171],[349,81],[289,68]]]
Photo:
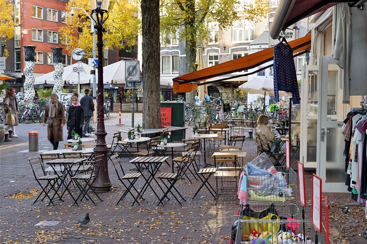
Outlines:
[[[311,47],[311,35],[307,35],[305,37],[291,41],[289,42],[289,45],[293,48],[293,53],[299,53],[304,50],[309,50]],[[216,66],[208,67],[199,71],[192,72],[190,74],[178,76],[176,78],[173,78],[173,92],[174,93],[191,92],[193,89],[197,87],[198,84],[200,84],[200,81],[205,81],[206,79],[209,78],[218,77],[221,75],[226,75],[258,67],[262,64],[265,64],[273,60],[273,55],[274,55],[274,49],[273,47],[271,47],[237,59],[230,60],[228,62]],[[256,70],[256,72],[257,71],[258,70]]]

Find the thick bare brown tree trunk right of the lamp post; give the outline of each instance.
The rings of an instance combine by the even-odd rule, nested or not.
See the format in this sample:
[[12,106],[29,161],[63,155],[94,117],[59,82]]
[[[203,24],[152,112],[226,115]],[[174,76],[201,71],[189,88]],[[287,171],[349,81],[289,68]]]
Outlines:
[[160,1],[142,0],[143,127],[161,128]]

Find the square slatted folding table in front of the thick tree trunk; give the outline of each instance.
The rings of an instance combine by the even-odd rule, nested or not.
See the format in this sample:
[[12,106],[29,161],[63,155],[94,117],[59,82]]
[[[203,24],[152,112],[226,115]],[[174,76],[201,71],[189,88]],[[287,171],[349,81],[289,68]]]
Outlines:
[[[136,157],[133,160],[130,160],[129,162],[132,164],[135,164],[135,166],[138,168],[139,172],[142,174],[145,184],[140,191],[139,195],[137,196],[137,199],[140,197],[143,197],[145,191],[148,189],[148,187],[152,190],[156,198],[160,201],[160,203],[163,204],[162,200],[158,194],[155,192],[154,188],[151,186],[152,180],[155,181],[156,185],[161,189],[162,193],[164,193],[162,187],[160,186],[159,182],[154,177],[155,174],[159,171],[161,165],[166,162],[169,157]],[[144,174],[142,172],[143,166],[147,169],[147,174]],[[156,189],[156,188],[155,188]]]

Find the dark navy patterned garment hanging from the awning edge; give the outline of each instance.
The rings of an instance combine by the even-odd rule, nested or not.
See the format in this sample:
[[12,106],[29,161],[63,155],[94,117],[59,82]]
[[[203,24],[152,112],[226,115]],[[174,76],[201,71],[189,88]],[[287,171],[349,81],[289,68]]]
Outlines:
[[279,102],[279,90],[292,93],[293,104],[300,103],[292,47],[283,42],[274,46],[274,97]]

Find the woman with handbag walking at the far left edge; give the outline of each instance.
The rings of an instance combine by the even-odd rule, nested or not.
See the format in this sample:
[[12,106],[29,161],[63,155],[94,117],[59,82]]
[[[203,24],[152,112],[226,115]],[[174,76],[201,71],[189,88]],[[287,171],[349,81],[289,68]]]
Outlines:
[[5,117],[5,141],[11,141],[9,137],[18,137],[15,134],[15,126],[18,125],[18,102],[15,97],[15,88],[11,87],[4,98],[3,106]]

